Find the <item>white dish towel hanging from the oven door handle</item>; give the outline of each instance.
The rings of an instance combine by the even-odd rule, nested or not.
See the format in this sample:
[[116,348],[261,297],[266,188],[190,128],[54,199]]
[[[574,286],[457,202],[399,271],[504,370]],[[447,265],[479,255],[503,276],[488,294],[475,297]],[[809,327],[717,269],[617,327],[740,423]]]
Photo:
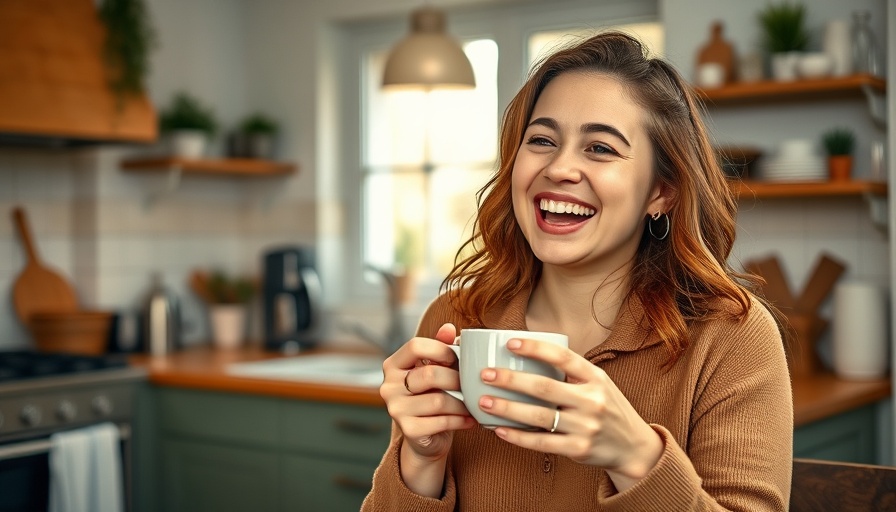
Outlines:
[[50,436],[49,512],[122,512],[118,427],[103,423]]

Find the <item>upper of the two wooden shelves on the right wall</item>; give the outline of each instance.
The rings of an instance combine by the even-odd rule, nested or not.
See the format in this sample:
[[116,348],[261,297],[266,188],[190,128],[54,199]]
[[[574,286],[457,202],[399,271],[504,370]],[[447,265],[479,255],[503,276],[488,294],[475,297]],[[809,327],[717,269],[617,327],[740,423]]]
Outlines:
[[792,82],[765,80],[743,82],[716,89],[696,89],[707,103],[736,105],[774,100],[831,99],[861,97],[866,89],[885,94],[887,82],[868,74],[836,78],[802,79]]

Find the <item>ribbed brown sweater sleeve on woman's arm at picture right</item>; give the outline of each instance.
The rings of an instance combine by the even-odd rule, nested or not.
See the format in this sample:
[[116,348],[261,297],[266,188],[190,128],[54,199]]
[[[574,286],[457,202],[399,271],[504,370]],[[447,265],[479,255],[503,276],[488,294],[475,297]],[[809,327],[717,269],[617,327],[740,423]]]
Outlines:
[[604,511],[787,510],[793,399],[780,335],[758,305],[743,324],[719,323],[706,333],[713,357],[698,383],[687,450],[652,425],[665,443],[659,462],[625,492],[604,478]]

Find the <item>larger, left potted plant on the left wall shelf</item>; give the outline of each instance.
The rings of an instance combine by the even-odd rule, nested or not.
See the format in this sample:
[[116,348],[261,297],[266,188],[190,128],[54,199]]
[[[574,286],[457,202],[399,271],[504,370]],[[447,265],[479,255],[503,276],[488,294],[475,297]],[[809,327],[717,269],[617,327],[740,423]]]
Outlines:
[[218,121],[211,107],[183,91],[175,94],[171,105],[159,115],[159,130],[168,136],[174,156],[201,157],[217,129]]

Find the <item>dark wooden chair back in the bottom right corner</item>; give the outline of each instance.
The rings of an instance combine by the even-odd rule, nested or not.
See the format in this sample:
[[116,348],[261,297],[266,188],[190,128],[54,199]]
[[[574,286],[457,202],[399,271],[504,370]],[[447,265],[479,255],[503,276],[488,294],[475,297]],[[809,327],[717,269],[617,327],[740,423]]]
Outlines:
[[896,511],[896,468],[793,460],[791,512]]

